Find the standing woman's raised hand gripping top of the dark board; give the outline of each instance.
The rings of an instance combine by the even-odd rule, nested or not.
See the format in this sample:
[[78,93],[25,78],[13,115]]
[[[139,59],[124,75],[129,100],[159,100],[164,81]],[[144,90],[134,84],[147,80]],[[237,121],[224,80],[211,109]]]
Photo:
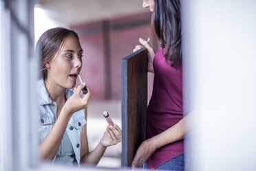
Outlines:
[[149,42],[140,38],[139,39],[140,43],[142,44],[141,45],[137,45],[133,52],[136,52],[137,50],[140,50],[141,48],[143,48],[143,46],[145,48],[147,48],[147,57],[148,57],[148,65],[147,65],[147,70],[149,72],[153,72],[153,58],[155,57],[155,51],[153,50],[153,48],[149,45]]

